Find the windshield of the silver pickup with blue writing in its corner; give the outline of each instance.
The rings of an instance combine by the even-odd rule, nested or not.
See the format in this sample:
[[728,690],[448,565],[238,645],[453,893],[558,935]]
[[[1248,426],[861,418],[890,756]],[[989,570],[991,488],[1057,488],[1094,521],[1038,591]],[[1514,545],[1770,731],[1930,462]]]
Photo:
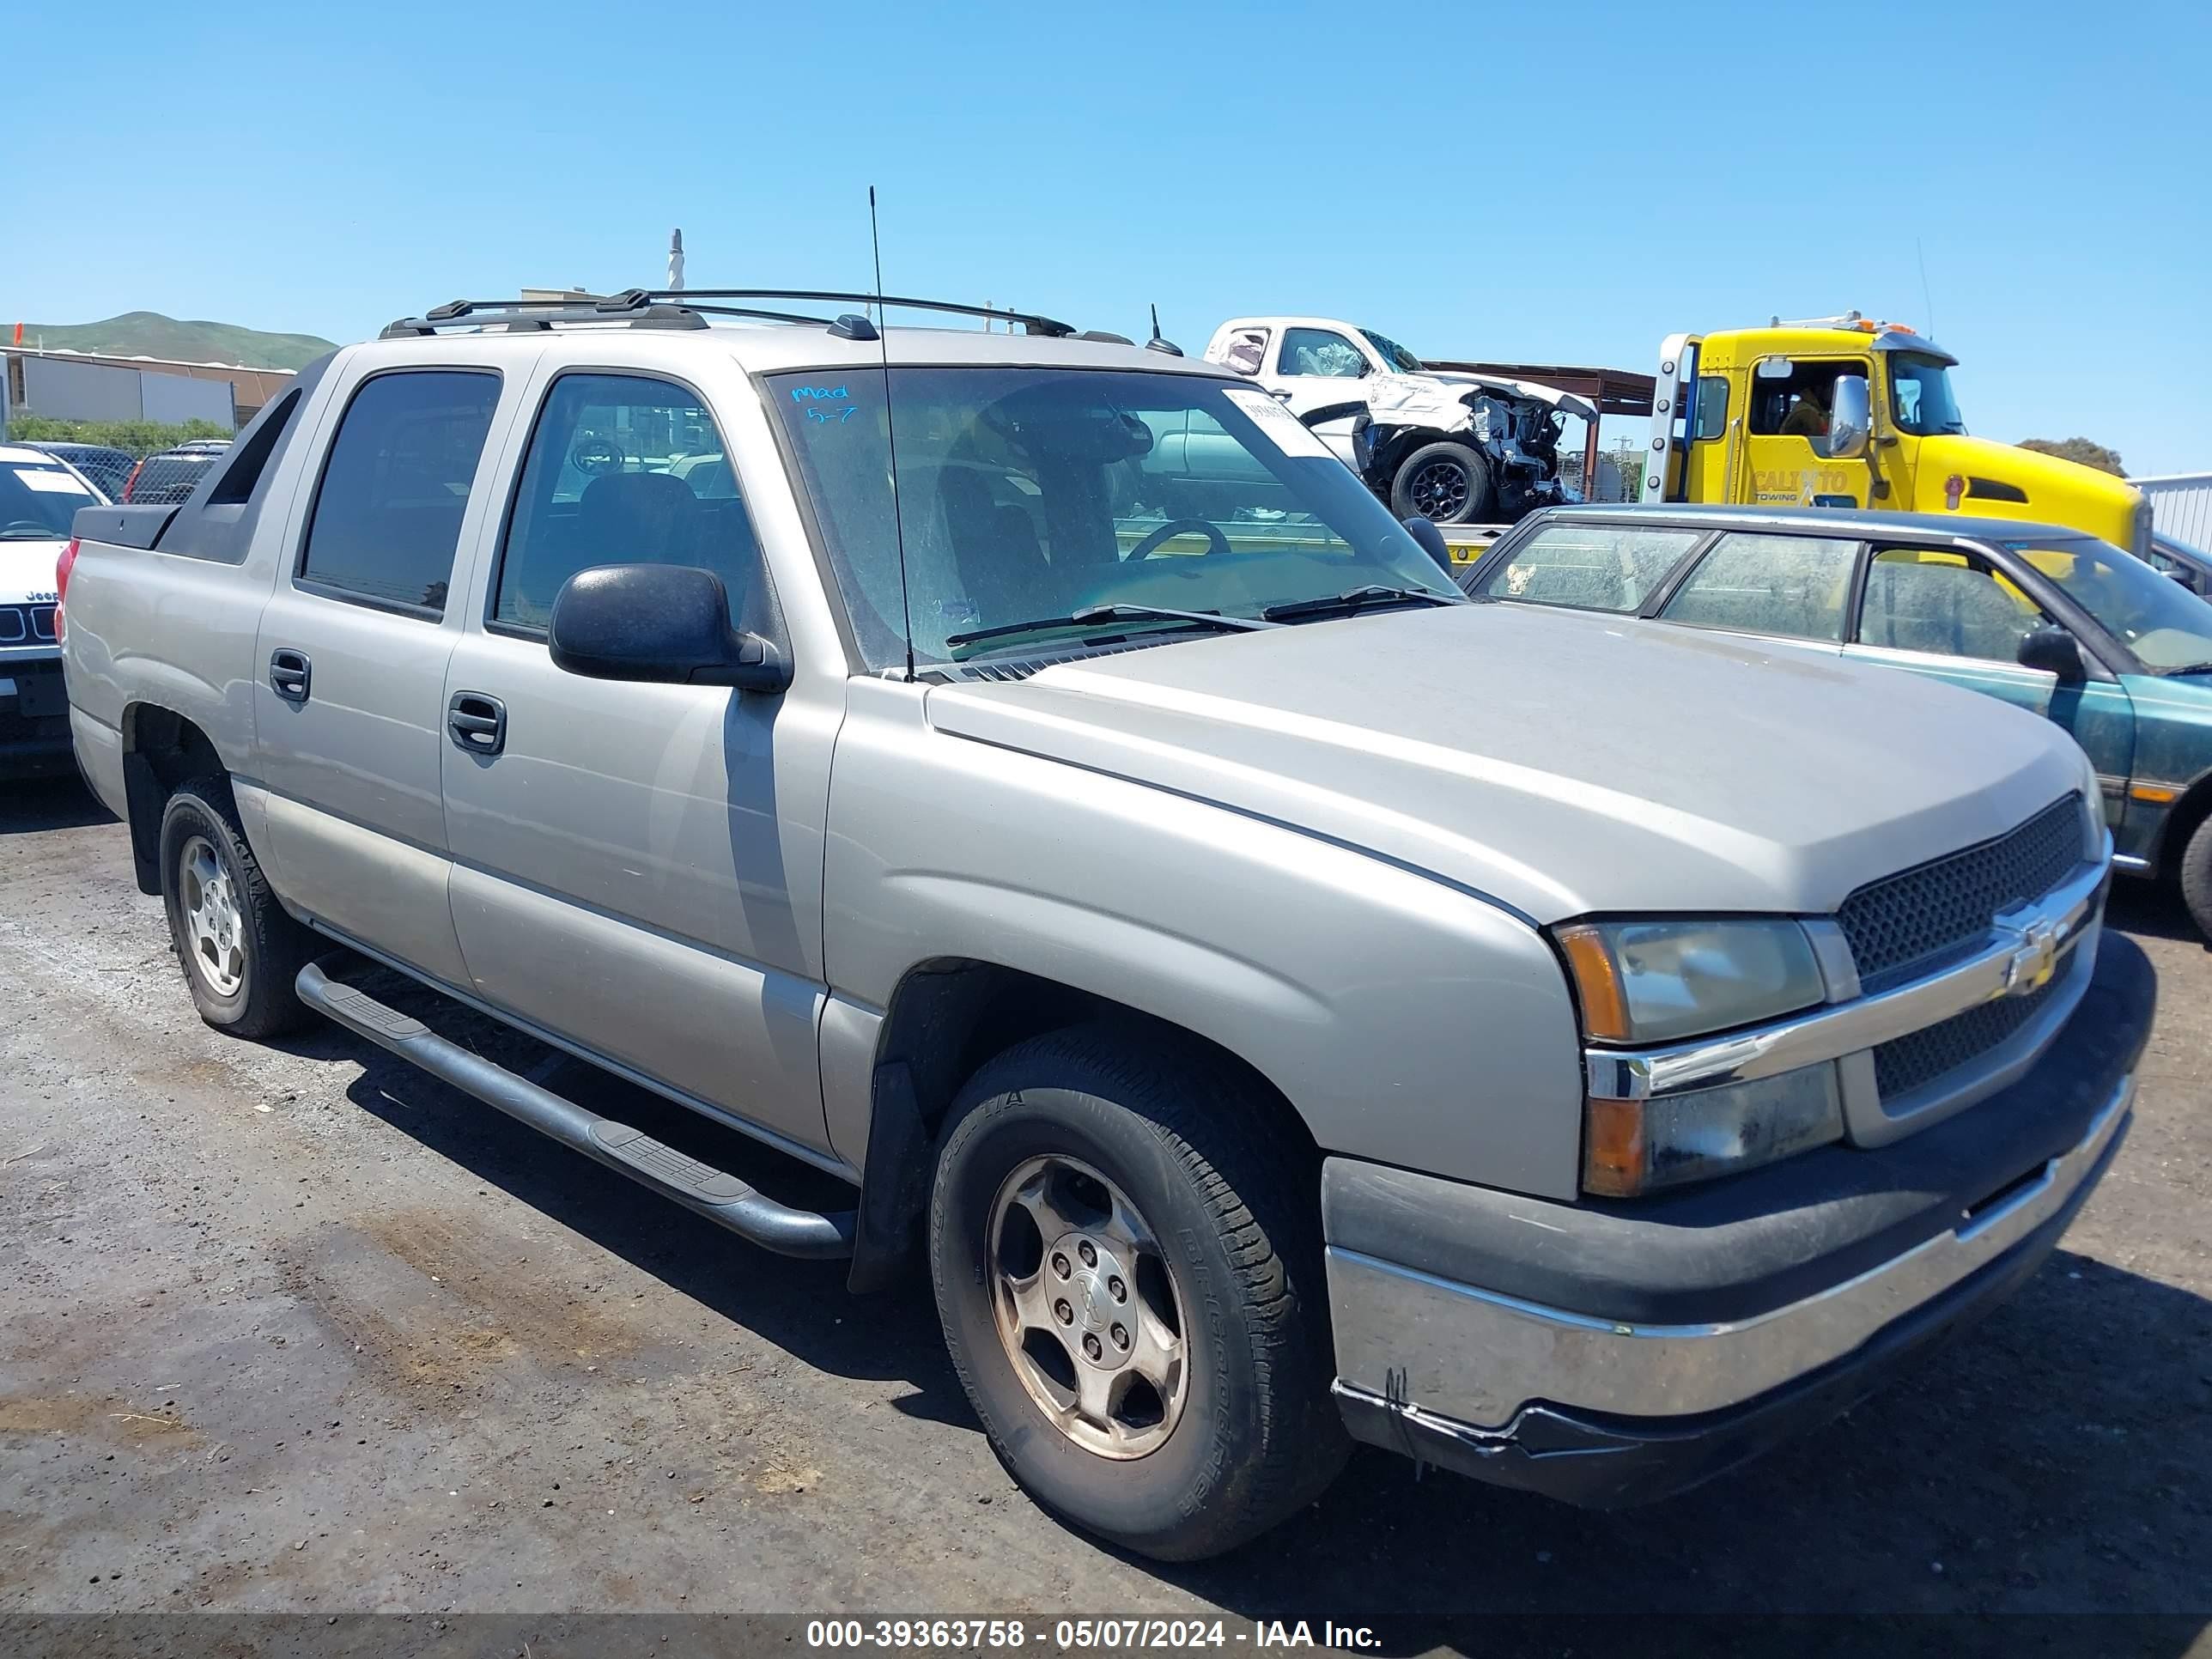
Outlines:
[[1352,469],[1256,387],[1022,367],[889,378],[896,434],[876,369],[768,380],[872,670],[905,661],[905,617],[914,655],[942,664],[1188,630],[1124,617],[982,637],[1091,606],[1259,617],[1360,586],[1460,599]]

